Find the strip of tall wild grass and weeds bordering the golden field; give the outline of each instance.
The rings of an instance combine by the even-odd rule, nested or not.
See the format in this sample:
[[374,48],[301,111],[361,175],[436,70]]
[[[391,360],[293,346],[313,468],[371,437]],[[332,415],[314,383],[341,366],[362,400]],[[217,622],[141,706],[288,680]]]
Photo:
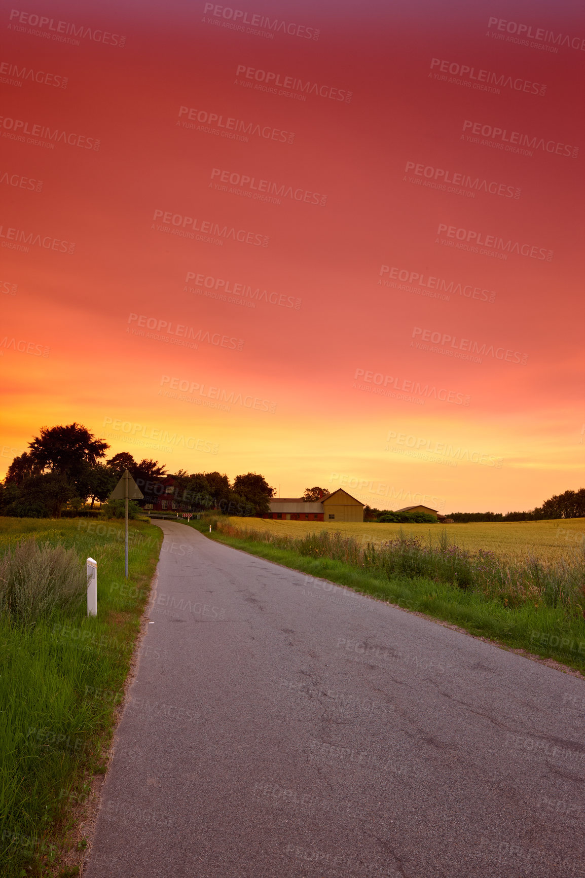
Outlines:
[[502,601],[506,607],[524,603],[563,608],[570,615],[585,611],[585,551],[567,550],[562,558],[543,561],[533,555],[509,561],[493,551],[469,551],[449,542],[445,531],[432,534],[426,543],[420,536],[402,531],[385,543],[361,543],[355,536],[323,530],[303,537],[278,535],[238,528],[217,517],[212,522],[226,536],[269,543],[307,558],[331,558],[374,576],[392,579],[426,578]]

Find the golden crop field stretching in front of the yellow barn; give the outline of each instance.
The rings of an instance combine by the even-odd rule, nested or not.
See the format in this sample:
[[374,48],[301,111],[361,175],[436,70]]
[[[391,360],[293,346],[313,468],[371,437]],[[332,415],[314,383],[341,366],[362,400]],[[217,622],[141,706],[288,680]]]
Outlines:
[[268,518],[230,518],[236,528],[268,530],[274,534],[304,536],[311,531],[339,531],[357,536],[364,543],[382,543],[398,536],[420,536],[426,543],[432,535],[437,543],[445,530],[450,543],[464,549],[489,549],[500,558],[536,555],[553,560],[569,550],[585,548],[585,519],[566,518],[545,522],[471,522],[469,524],[378,524],[377,522],[286,522]]

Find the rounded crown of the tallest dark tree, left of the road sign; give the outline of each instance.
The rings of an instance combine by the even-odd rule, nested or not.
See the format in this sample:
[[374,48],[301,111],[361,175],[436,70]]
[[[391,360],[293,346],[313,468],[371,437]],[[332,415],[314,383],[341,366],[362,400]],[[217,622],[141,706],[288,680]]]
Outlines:
[[40,436],[28,444],[32,459],[43,470],[60,473],[74,483],[83,476],[85,465],[105,457],[110,447],[76,421],[67,426],[41,427]]

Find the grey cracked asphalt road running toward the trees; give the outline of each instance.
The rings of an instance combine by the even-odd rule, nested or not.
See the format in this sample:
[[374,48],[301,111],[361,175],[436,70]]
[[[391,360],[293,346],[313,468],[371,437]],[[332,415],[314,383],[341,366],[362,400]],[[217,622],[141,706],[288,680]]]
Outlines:
[[585,875],[585,683],[161,522],[88,878]]

